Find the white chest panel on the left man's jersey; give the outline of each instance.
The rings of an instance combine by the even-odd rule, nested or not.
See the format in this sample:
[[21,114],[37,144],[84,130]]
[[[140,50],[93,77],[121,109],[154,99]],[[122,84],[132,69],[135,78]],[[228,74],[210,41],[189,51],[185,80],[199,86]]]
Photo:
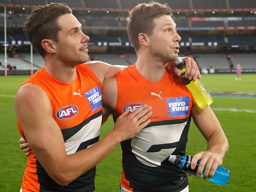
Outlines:
[[[82,142],[86,142],[99,136],[99,132],[101,130],[101,120],[102,116],[92,119],[65,142],[67,155],[75,153]],[[92,145],[89,145],[88,147],[90,146]]]

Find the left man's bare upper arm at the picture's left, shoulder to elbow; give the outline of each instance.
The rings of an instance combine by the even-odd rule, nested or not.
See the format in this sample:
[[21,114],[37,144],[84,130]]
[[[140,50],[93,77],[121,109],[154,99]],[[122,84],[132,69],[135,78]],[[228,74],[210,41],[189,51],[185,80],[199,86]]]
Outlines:
[[[26,92],[30,93],[29,98]],[[54,165],[60,163],[66,153],[62,133],[52,117],[47,95],[35,87],[18,91],[15,110],[30,148],[51,175]]]

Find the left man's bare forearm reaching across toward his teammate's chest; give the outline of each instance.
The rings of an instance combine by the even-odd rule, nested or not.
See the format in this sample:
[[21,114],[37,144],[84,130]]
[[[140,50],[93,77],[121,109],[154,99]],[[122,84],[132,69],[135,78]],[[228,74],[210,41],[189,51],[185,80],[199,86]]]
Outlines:
[[118,136],[111,131],[92,147],[66,155],[58,163],[53,163],[47,172],[60,185],[68,185],[103,160],[119,142]]

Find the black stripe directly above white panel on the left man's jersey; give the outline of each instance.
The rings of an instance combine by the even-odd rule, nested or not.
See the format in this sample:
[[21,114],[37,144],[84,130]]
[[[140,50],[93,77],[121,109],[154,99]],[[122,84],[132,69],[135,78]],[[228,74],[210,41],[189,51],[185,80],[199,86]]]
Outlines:
[[88,117],[87,119],[85,119],[82,123],[80,123],[79,125],[76,125],[74,127],[70,127],[67,129],[62,129],[62,135],[64,138],[64,142],[66,142],[69,138],[71,138],[74,134],[76,134],[80,129],[82,129],[84,127],[84,125],[86,125],[87,123],[89,123],[90,121],[92,121],[92,119],[96,119],[97,117],[101,116],[102,111],[100,110],[99,112],[93,114],[92,116]]

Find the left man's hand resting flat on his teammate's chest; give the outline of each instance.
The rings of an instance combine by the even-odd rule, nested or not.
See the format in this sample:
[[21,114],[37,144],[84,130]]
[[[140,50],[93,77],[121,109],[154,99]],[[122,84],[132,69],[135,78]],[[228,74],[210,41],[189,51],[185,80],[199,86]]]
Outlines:
[[125,112],[116,119],[113,130],[120,139],[119,142],[133,138],[146,127],[150,123],[151,110],[152,107],[145,104],[129,114],[126,108]]

